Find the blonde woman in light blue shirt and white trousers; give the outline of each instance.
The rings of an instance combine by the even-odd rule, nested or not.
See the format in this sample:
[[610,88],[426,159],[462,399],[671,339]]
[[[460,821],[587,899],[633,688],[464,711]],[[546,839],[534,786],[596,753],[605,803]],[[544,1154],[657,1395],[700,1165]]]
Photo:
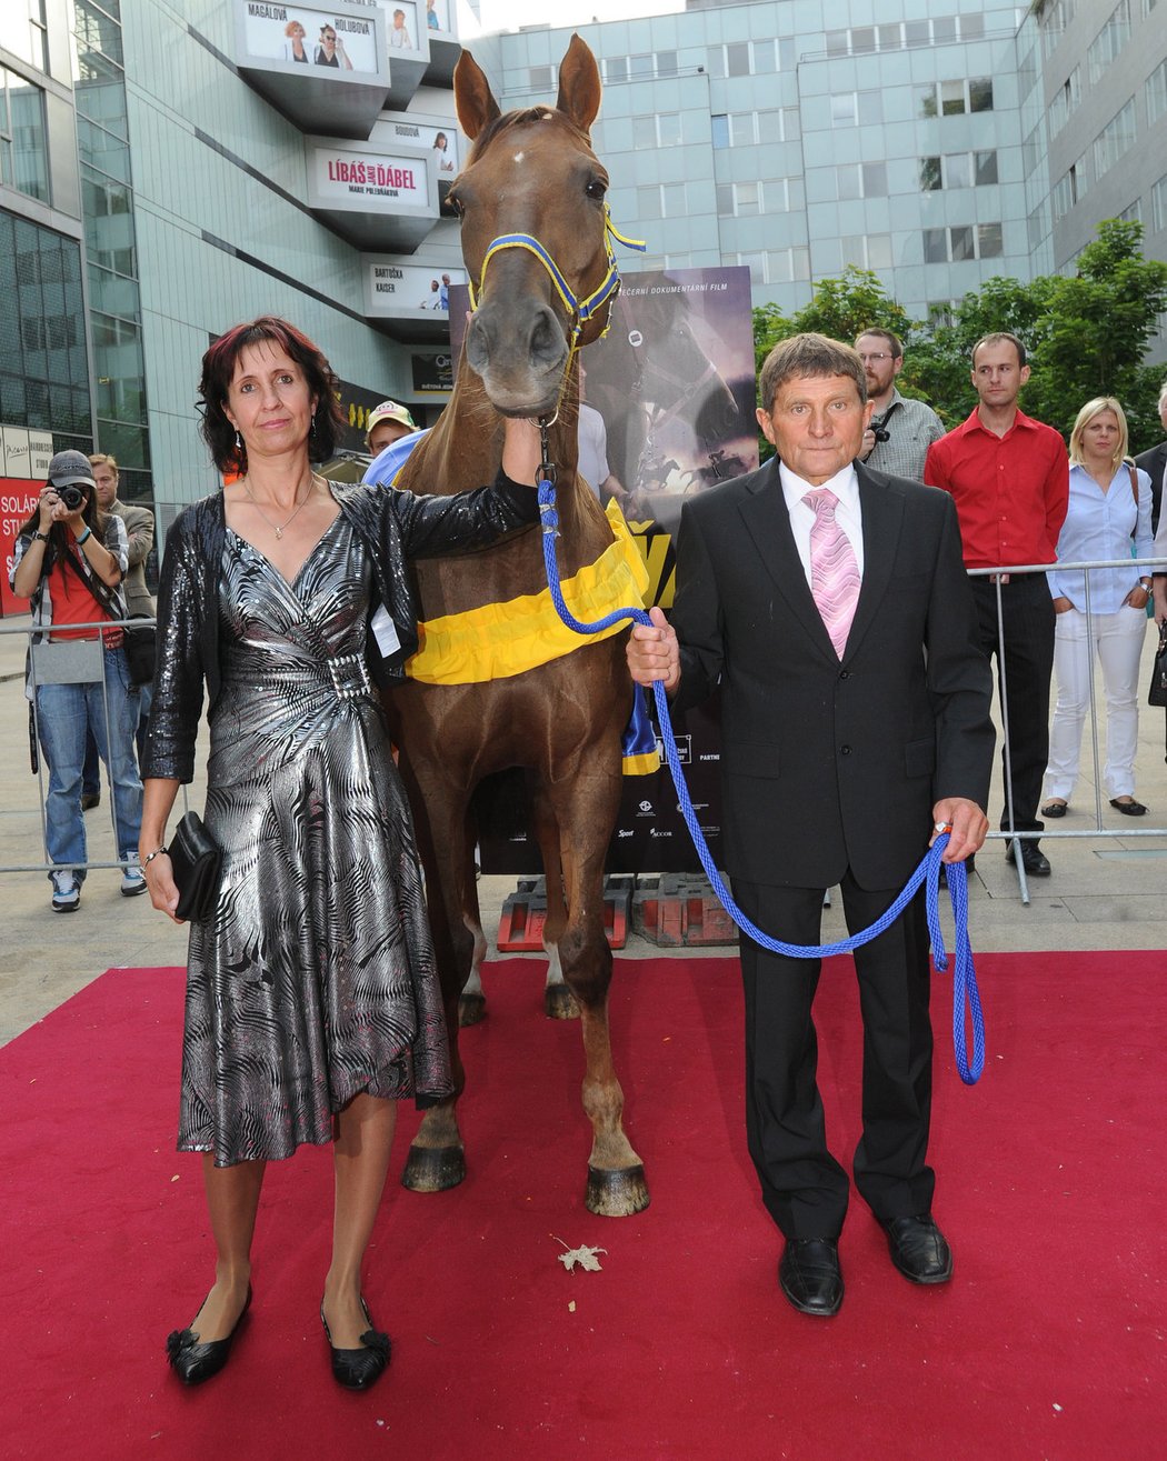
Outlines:
[[[1113,396],[1088,400],[1070,432],[1069,511],[1057,539],[1059,562],[1152,557],[1151,478],[1126,457],[1123,408]],[[1057,707],[1050,729],[1043,817],[1065,817],[1078,780],[1082,726],[1089,709],[1089,665],[1094,655],[1106,690],[1106,766],[1103,783],[1110,805],[1126,817],[1144,817],[1135,801],[1135,751],[1139,733],[1139,657],[1147,633],[1151,570],[1136,562],[1120,568],[1057,568],[1049,574],[1057,611],[1054,671]]]

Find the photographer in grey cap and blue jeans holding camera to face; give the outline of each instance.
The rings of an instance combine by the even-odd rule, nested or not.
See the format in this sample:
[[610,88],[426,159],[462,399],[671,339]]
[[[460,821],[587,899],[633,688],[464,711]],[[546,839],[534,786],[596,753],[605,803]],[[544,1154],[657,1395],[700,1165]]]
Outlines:
[[[121,893],[135,897],[146,891],[137,866],[142,782],[133,758],[139,701],[121,649],[123,631],[78,627],[124,618],[120,583],[126,562],[126,524],[99,510],[89,462],[80,451],[58,451],[48,463],[35,511],[16,536],[10,579],[13,593],[32,600],[34,631],[51,628],[50,643],[101,636],[104,646],[104,681],[35,688],[37,726],[48,763],[45,840],[57,913],[78,907],[85,881],[80,786],[86,730],[92,730],[110,773],[117,849],[127,862]],[[44,638],[44,633],[34,633],[34,644]]]

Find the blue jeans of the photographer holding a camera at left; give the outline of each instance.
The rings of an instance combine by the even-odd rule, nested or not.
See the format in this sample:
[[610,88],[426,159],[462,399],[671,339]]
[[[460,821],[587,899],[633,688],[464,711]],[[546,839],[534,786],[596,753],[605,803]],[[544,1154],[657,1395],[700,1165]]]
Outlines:
[[105,687],[101,681],[37,687],[37,728],[48,761],[48,861],[57,868],[75,868],[78,881],[83,881],[86,863],[85,818],[80,811],[86,730],[92,730],[98,755],[110,773],[118,855],[124,858],[137,850],[142,782],[133,757],[136,726],[137,690],[130,685],[126,655],[120,647],[105,650]]

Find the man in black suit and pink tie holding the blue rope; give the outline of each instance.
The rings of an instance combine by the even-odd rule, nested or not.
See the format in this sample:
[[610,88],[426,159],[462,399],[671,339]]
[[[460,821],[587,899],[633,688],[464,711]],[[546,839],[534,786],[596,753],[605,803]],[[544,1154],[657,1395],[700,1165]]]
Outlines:
[[[934,839],[946,862],[987,831],[992,675],[951,497],[857,465],[870,416],[858,355],[820,335],[778,345],[758,421],[778,457],[683,510],[671,624],[635,627],[629,666],[662,679],[677,710],[721,685],[724,861],[766,934],[817,944],[823,890],[870,926]],[[839,622],[817,511],[828,488],[857,570]],[[804,501],[810,494],[813,504]],[[822,608],[820,608],[822,603]],[[823,618],[826,614],[826,619]],[[831,628],[828,630],[828,624]],[[841,644],[839,650],[836,644]],[[856,1185],[914,1283],[943,1283],[952,1254],[932,1217],[929,938],[923,894],[856,951],[864,1024]],[[815,1083],[819,961],[743,935],[746,1128],[762,1198],[785,1236],[778,1277],[804,1313],[842,1303],[838,1237],[848,1179],[826,1147]]]

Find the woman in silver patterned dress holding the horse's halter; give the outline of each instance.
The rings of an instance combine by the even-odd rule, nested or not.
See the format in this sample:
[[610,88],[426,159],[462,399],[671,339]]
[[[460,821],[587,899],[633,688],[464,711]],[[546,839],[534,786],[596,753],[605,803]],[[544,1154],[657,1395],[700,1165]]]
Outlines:
[[332,1143],[335,1221],[320,1316],[335,1378],[364,1389],[389,1341],[361,1261],[396,1100],[450,1091],[412,823],[377,685],[417,647],[405,560],[496,541],[538,516],[538,435],[507,422],[503,472],[455,497],[336,487],[336,380],[284,320],[237,326],[203,356],[202,431],[241,475],[175,520],[158,595],[140,858],[174,916],[165,849],[208,694],[206,827],[215,913],[190,929],[178,1148],[203,1153],[215,1283],[167,1341],[187,1384],[227,1363],[252,1299],[265,1164]]

